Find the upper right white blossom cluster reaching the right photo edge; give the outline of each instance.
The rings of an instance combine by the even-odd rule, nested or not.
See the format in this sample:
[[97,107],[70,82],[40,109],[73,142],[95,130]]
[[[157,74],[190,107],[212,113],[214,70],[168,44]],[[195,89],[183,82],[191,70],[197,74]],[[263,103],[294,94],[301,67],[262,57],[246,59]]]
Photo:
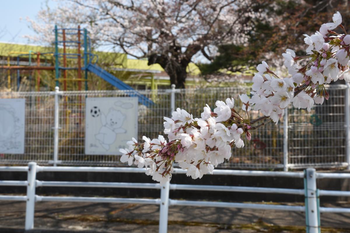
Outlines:
[[[310,111],[315,103],[322,104],[329,98],[324,84],[338,79],[350,81],[350,35],[346,35],[341,23],[342,17],[337,12],[332,23],[322,24],[314,35],[305,34],[304,42],[308,45],[305,56],[298,57],[291,49],[282,54],[290,77],[278,77],[262,61],[253,77],[252,98],[245,96],[245,105],[260,110],[277,123],[289,103]],[[345,34],[332,31],[338,26]]]

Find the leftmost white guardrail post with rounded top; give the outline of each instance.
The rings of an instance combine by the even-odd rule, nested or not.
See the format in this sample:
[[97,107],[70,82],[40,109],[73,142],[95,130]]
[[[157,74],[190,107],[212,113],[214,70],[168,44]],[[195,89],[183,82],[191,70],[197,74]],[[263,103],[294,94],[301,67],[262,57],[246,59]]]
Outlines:
[[29,162],[28,168],[29,169],[28,169],[25,230],[31,230],[34,228],[36,162]]

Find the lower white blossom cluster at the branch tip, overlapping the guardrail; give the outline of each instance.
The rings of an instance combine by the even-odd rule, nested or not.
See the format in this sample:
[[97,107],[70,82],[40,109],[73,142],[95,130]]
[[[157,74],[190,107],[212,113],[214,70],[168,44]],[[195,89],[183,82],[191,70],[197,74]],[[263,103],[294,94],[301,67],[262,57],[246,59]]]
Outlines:
[[231,146],[243,147],[241,134],[248,132],[248,124],[237,125],[243,120],[234,109],[235,101],[217,101],[214,112],[207,105],[201,118],[193,118],[187,111],[177,108],[172,117],[164,117],[164,133],[169,142],[159,135],[157,139],[144,136],[144,143],[133,138],[121,149],[120,161],[146,167],[146,174],[161,183],[171,178],[173,162],[177,162],[193,179],[212,173],[214,167],[231,157]]

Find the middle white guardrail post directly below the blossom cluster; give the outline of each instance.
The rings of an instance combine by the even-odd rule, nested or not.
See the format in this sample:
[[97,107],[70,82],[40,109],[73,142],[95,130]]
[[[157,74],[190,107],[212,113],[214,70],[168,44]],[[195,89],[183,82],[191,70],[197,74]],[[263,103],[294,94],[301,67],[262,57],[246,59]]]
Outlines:
[[168,231],[169,187],[168,181],[160,189],[159,233]]

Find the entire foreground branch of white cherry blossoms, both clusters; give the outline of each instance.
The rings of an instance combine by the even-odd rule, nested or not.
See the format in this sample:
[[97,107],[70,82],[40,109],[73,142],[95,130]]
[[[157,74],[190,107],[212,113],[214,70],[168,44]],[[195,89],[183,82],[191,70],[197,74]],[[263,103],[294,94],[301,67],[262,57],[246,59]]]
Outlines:
[[[235,109],[232,98],[216,101],[213,111],[206,105],[201,118],[178,108],[171,118],[164,117],[168,142],[163,136],[152,140],[144,136],[142,143],[133,138],[127,143],[129,148],[120,150],[120,160],[146,167],[146,174],[161,183],[171,179],[174,162],[193,179],[201,178],[229,159],[232,147],[244,147],[242,135],[250,140],[250,131],[270,120],[277,124],[290,103],[308,111],[315,103],[322,104],[329,98],[325,84],[338,79],[350,81],[350,35],[341,24],[339,12],[332,19],[314,35],[304,35],[306,55],[296,56],[290,49],[282,54],[289,77],[278,77],[265,61],[257,66],[250,96],[239,95],[244,117]],[[335,32],[337,27],[344,34]],[[264,116],[252,120],[252,110]]]

